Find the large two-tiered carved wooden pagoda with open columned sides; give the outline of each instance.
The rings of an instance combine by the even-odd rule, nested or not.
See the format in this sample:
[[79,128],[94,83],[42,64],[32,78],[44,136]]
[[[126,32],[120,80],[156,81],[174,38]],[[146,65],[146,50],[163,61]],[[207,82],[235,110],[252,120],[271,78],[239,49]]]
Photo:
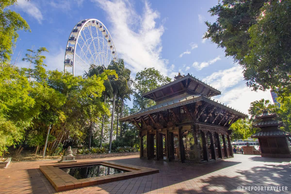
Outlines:
[[229,126],[247,115],[210,99],[219,94],[179,73],[174,81],[142,95],[155,106],[120,121],[138,127],[141,158],[200,163],[233,157]]

